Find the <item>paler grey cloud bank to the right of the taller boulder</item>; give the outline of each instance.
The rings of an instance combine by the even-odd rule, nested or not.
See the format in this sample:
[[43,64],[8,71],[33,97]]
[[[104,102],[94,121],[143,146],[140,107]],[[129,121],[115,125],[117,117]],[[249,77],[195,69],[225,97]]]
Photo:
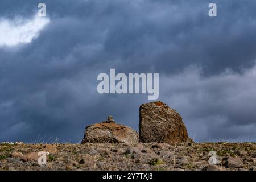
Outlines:
[[163,99],[181,113],[191,137],[255,141],[256,67],[213,77],[201,77],[200,72],[191,67],[162,80],[162,85],[168,82],[162,88]]

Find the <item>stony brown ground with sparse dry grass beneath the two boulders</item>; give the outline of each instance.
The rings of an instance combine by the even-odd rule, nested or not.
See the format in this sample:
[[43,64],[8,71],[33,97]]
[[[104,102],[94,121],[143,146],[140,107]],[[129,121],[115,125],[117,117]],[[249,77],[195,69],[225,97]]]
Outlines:
[[[39,166],[39,151],[47,164]],[[209,165],[216,151],[217,165]],[[256,170],[256,143],[0,144],[0,170]]]

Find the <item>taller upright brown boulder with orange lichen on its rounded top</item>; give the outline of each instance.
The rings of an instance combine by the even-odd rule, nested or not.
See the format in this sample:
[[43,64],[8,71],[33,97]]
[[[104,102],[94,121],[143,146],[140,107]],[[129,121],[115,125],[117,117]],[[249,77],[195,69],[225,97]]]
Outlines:
[[139,139],[141,142],[186,142],[188,133],[180,114],[156,101],[139,108]]

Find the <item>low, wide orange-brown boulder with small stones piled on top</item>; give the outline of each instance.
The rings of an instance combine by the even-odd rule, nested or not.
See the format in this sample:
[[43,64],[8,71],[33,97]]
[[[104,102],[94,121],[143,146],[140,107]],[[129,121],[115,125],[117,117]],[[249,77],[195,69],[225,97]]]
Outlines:
[[137,131],[124,125],[118,125],[109,116],[106,121],[89,125],[85,129],[82,143],[138,143],[139,135]]

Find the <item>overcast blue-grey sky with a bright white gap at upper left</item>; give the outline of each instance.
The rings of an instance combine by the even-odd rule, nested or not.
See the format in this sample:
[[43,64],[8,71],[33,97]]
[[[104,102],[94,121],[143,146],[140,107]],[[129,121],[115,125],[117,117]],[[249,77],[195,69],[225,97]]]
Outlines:
[[[46,18],[37,16],[46,3]],[[209,3],[217,17],[209,17]],[[79,142],[113,115],[138,130],[147,94],[97,75],[159,73],[159,98],[197,142],[256,141],[255,0],[0,1],[0,142]],[[42,138],[42,139],[41,139]]]

